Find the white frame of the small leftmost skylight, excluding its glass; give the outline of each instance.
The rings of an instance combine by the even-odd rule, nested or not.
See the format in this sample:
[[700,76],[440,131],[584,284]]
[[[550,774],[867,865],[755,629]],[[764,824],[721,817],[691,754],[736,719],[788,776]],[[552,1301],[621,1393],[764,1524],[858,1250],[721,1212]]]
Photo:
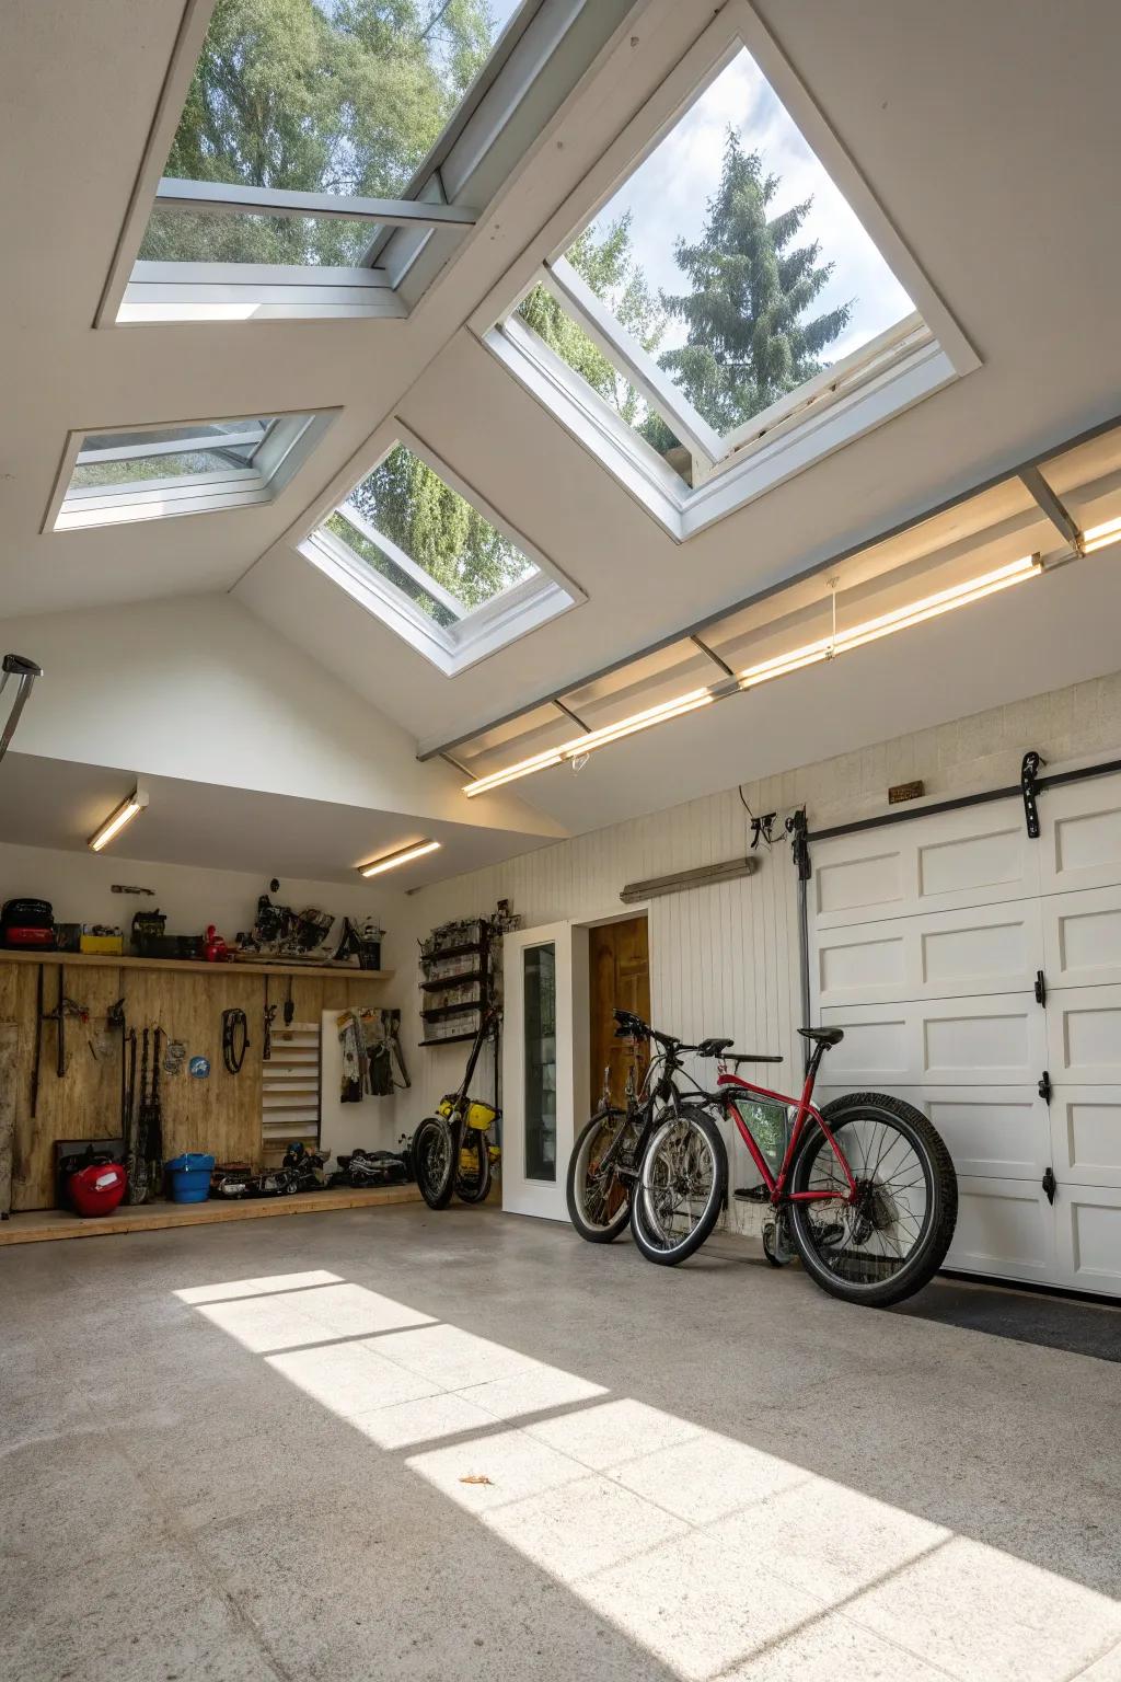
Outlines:
[[[62,464],[47,506],[42,530],[82,532],[108,525],[133,525],[141,520],[175,520],[185,515],[220,513],[230,508],[252,508],[272,503],[289,484],[299,468],[308,461],[326,429],[331,426],[336,409],[316,412],[277,412],[274,415],[213,415],[205,420],[151,420],[143,424],[121,422],[113,426],[92,426],[71,431],[67,434]],[[180,441],[160,437],[175,429],[230,426],[245,422],[259,424],[269,420],[266,434],[261,437],[254,459],[247,466],[230,463],[227,468],[213,468],[205,473],[168,474],[153,479],[129,479],[119,484],[84,484],[74,486],[74,469],[82,466],[82,456],[96,454],[103,461],[134,461],[148,456],[175,454],[217,454],[220,447],[232,447],[225,436],[207,436],[197,432]],[[145,449],[139,444],[118,444],[106,449],[89,451],[86,444],[92,437],[113,437],[121,434],[153,434],[153,444]],[[237,437],[234,434],[232,437]],[[247,434],[240,434],[247,436]]]

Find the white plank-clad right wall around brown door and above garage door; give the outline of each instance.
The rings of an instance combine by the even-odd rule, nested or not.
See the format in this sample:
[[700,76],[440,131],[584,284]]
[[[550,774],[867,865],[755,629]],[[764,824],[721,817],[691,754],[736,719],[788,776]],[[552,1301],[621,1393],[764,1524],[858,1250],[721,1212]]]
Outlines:
[[[745,784],[755,812],[780,814],[805,804],[810,828],[825,828],[886,809],[894,782],[921,777],[929,799],[1015,784],[1027,748],[1052,764],[1121,754],[1121,673],[897,737],[839,759]],[[627,747],[608,754],[627,754]],[[734,760],[729,760],[734,770]],[[450,917],[479,915],[513,900],[526,927],[563,918],[618,915],[627,881],[716,863],[745,851],[748,814],[733,787],[666,812],[613,824],[556,846],[439,883],[408,902],[412,934]],[[694,1039],[733,1034],[738,1046],[782,1051],[776,1083],[797,1087],[802,1070],[795,1029],[802,1021],[797,878],[785,844],[761,854],[755,876],[650,902],[650,999],[659,1026]],[[412,940],[408,942],[412,947]],[[407,1046],[418,1038],[417,991],[402,976]],[[412,1120],[452,1088],[464,1046],[412,1050]],[[711,1065],[709,1065],[711,1068]],[[479,1090],[489,1092],[484,1066]],[[403,1105],[402,1105],[403,1108]],[[734,1142],[733,1186],[748,1184],[746,1152]],[[748,1228],[750,1206],[733,1204]]]

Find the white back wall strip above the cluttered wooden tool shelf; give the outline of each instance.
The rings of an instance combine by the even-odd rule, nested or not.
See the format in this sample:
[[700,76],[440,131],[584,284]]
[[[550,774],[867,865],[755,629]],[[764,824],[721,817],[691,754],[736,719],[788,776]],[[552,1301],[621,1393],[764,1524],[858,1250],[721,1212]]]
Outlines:
[[[113,893],[114,881],[155,888],[155,898]],[[267,876],[245,871],[143,865],[101,853],[61,853],[37,846],[0,844],[0,902],[50,900],[57,922],[119,923],[126,942],[133,913],[150,908],[166,915],[168,934],[200,934],[207,923],[215,923],[232,942],[240,928],[252,927],[257,897],[267,891]],[[341,886],[338,881],[297,881],[286,876],[276,898],[296,910],[316,905],[334,912],[336,917],[373,917],[387,930],[382,964],[392,969],[407,959],[408,902],[400,891],[366,883]],[[407,971],[403,986],[408,987],[410,981]]]

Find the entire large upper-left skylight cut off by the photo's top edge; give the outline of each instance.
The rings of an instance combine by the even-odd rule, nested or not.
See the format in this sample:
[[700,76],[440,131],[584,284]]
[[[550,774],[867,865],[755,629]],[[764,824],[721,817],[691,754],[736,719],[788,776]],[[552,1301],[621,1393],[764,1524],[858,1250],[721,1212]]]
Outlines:
[[407,315],[622,10],[198,0],[99,321]]

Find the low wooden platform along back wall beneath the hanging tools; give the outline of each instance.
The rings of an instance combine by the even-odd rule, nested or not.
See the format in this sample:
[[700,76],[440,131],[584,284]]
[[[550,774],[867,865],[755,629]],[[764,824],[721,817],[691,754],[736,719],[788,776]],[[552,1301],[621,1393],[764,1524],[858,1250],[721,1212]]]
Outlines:
[[113,1233],[153,1233],[166,1226],[208,1226],[215,1221],[259,1221],[277,1214],[326,1214],[329,1209],[366,1209],[382,1203],[420,1203],[415,1186],[383,1186],[356,1191],[331,1186],[328,1191],[297,1191],[291,1198],[247,1198],[207,1203],[121,1204],[113,1214],[82,1219],[69,1209],[37,1209],[0,1221],[2,1245],[35,1245],[49,1238],[106,1238]]

